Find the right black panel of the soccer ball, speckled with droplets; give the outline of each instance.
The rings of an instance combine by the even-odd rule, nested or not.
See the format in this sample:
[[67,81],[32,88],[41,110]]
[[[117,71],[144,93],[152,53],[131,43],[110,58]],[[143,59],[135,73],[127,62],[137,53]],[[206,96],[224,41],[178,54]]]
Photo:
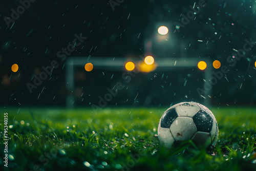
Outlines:
[[197,126],[197,131],[210,133],[212,129],[213,119],[205,111],[200,110],[195,116],[193,116],[194,123]]

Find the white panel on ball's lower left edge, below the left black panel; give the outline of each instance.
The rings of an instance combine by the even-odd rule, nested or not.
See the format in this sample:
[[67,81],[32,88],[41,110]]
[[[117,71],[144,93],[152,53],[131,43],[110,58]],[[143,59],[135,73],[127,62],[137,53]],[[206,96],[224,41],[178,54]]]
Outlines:
[[170,133],[170,129],[160,126],[158,126],[158,139],[160,144],[167,148],[170,148],[175,141],[172,133]]

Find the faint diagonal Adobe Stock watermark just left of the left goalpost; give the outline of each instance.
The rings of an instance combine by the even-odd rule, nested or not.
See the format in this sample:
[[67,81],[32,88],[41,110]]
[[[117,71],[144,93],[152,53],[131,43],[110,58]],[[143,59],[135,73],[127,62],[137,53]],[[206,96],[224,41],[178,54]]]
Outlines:
[[[82,33],[80,35],[75,34],[73,43],[71,42],[67,48],[62,48],[60,51],[57,52],[56,56],[60,58],[60,60],[63,62],[66,60],[67,56],[70,56],[72,52],[76,50],[76,47],[80,46],[82,42],[87,39],[87,37],[82,37]],[[79,41],[77,43],[77,41]],[[51,76],[53,69],[56,69],[59,67],[59,63],[56,60],[51,61],[51,65],[47,67],[42,67],[41,69],[43,70],[42,72],[39,73],[37,76],[34,74],[33,78],[34,81],[33,83],[27,82],[27,87],[29,89],[29,92],[32,93],[33,89],[37,89],[38,86],[41,85],[42,81],[46,80],[48,76]],[[32,78],[32,79],[33,79]]]

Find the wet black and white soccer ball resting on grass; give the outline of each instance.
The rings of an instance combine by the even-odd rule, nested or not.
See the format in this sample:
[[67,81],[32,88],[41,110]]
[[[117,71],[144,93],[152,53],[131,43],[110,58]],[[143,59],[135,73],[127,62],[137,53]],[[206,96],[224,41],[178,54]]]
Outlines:
[[218,124],[212,112],[196,102],[181,102],[171,106],[158,124],[160,144],[170,148],[174,142],[191,139],[198,147],[214,147],[218,139]]

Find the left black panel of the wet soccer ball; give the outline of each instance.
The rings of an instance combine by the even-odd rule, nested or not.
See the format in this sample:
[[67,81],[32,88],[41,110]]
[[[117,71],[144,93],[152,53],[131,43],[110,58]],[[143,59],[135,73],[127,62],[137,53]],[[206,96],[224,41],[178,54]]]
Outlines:
[[175,108],[169,108],[164,112],[163,116],[160,119],[161,127],[168,128],[173,123],[173,121],[178,117]]

